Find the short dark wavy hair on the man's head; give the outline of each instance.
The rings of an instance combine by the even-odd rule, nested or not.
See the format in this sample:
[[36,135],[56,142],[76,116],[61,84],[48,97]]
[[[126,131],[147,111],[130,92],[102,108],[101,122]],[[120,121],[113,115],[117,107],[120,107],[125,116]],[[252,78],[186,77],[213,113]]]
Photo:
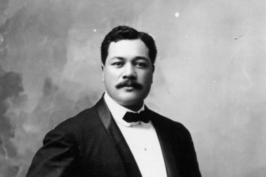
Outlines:
[[157,55],[157,49],[153,38],[149,34],[137,31],[129,26],[117,26],[105,36],[102,42],[101,58],[104,65],[108,56],[108,48],[110,46],[110,43],[118,42],[123,39],[140,39],[141,41],[143,41],[149,50],[150,61],[152,65],[154,64]]

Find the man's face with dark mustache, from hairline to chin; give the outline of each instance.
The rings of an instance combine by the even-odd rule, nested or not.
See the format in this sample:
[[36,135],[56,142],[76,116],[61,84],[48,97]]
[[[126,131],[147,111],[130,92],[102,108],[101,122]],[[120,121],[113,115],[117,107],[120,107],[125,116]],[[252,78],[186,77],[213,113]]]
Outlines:
[[125,107],[142,105],[152,84],[153,66],[140,39],[111,42],[103,67],[108,94]]

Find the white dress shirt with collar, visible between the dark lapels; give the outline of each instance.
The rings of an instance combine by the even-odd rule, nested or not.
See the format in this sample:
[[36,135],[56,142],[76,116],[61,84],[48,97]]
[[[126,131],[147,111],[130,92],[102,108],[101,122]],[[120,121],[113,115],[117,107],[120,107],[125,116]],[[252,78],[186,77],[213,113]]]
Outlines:
[[[128,123],[123,117],[126,112],[134,111],[115,102],[107,92],[104,98],[130,147],[142,177],[167,177],[160,143],[151,121]],[[144,104],[137,112],[142,110]]]

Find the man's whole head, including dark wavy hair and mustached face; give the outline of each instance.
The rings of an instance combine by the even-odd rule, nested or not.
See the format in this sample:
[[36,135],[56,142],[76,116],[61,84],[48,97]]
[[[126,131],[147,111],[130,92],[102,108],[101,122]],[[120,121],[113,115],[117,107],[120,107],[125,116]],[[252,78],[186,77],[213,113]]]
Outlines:
[[152,84],[157,53],[153,38],[133,28],[118,26],[105,37],[101,53],[107,93],[117,103],[138,109]]

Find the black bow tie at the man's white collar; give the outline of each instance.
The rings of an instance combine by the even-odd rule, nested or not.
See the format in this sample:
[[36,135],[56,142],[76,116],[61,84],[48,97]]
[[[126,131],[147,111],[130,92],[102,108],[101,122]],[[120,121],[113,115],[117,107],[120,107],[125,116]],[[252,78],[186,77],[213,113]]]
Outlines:
[[148,123],[150,120],[149,116],[147,115],[147,111],[145,111],[145,110],[141,111],[139,113],[127,112],[124,115],[123,119],[128,123],[138,122],[138,121]]

